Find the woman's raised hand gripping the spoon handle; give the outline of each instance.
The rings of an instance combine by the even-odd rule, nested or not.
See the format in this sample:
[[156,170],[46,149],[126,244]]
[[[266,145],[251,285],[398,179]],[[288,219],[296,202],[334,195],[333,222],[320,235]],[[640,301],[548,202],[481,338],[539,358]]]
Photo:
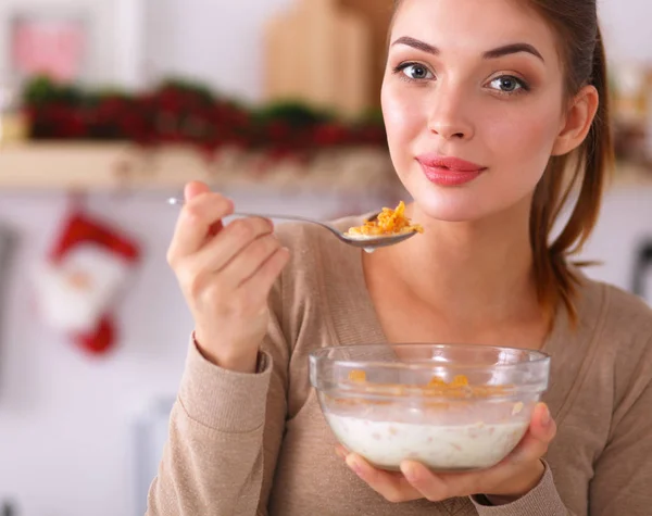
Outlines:
[[269,219],[223,225],[234,204],[206,185],[188,184],[185,198],[167,263],[195,319],[196,341],[212,363],[253,373],[269,319],[267,297],[289,251]]

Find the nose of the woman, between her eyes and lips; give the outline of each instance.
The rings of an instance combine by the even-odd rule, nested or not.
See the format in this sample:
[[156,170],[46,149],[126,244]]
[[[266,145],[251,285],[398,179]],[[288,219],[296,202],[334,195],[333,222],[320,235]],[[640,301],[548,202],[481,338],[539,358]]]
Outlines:
[[441,85],[432,92],[428,130],[444,140],[468,140],[474,136],[468,102],[461,87]]

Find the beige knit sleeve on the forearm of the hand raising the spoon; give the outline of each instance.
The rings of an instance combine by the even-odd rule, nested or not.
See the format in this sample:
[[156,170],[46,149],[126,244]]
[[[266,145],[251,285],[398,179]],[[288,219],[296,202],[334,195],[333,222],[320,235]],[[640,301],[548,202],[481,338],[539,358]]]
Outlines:
[[267,514],[288,355],[274,311],[255,374],[222,369],[191,343],[147,516]]

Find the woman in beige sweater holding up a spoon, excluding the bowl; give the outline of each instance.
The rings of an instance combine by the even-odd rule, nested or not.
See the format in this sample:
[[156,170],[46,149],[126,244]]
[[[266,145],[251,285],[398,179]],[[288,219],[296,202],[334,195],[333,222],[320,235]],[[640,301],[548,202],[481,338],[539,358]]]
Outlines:
[[[187,187],[168,260],[195,339],[148,514],[650,514],[652,315],[567,261],[611,159],[594,1],[403,0],[389,41],[389,148],[425,234],[361,256],[318,228],[223,227],[233,203]],[[336,445],[306,356],[377,341],[542,349],[546,404],[496,467],[374,469]]]

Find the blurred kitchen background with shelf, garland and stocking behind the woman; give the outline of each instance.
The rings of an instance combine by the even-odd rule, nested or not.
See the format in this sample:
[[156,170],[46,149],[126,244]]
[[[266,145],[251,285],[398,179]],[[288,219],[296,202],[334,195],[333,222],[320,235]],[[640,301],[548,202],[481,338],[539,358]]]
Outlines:
[[[0,514],[143,514],[191,330],[165,263],[187,180],[323,218],[404,198],[391,3],[0,2]],[[601,9],[618,163],[580,256],[652,303],[652,3]]]

